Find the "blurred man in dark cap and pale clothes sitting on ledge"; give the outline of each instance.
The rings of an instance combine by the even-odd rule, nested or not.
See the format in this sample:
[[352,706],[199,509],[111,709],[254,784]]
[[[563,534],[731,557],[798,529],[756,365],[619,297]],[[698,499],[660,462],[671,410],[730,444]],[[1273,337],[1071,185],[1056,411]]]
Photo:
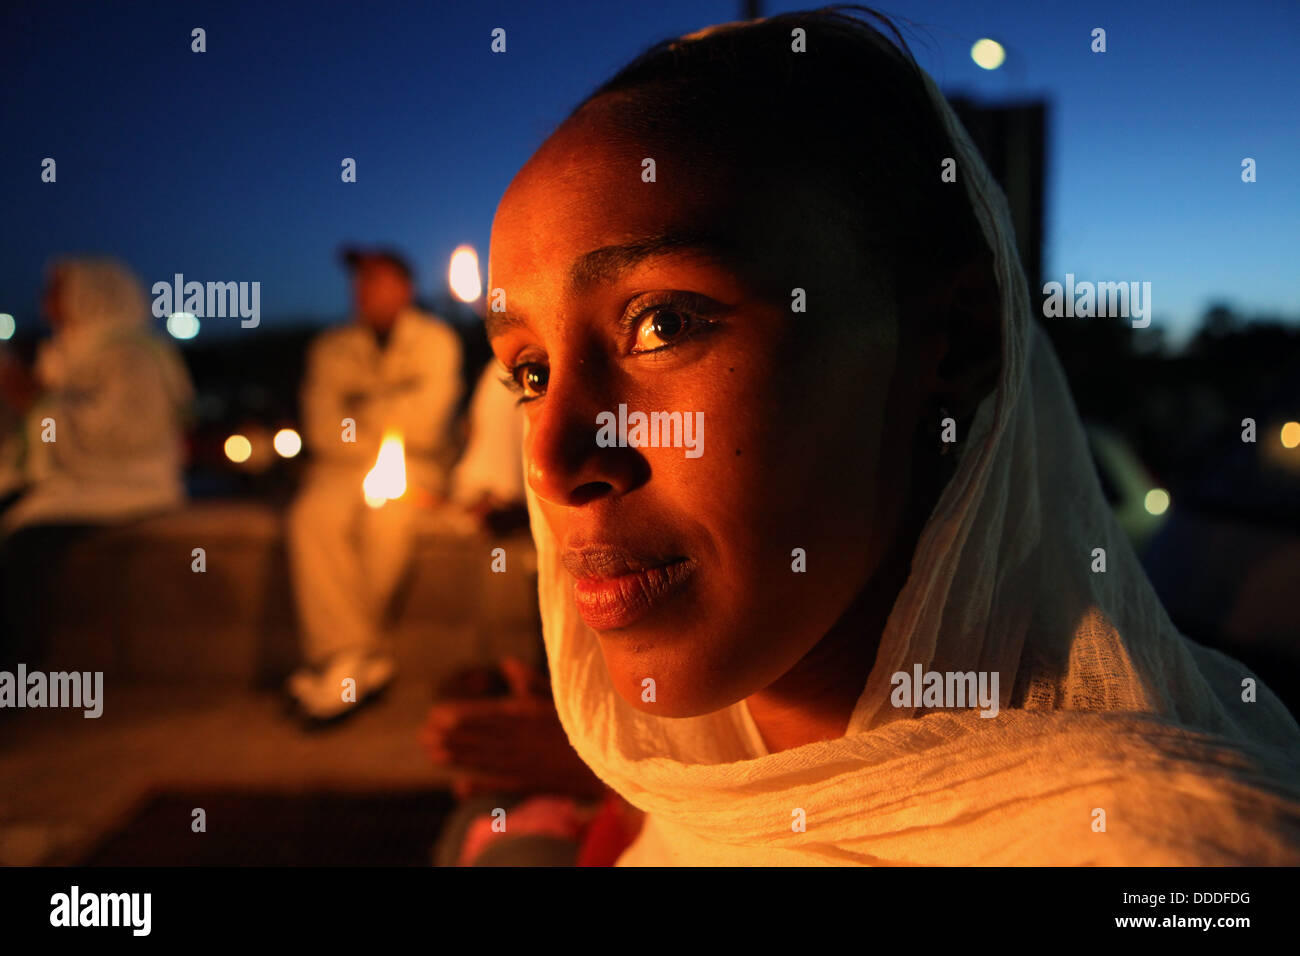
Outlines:
[[[460,342],[412,304],[407,261],[387,250],[347,250],[343,261],[356,317],[308,354],[302,406],[312,464],[289,515],[306,658],[289,692],[308,724],[352,713],[393,678],[382,619],[410,563],[415,502],[446,493],[460,397]],[[404,446],[407,493],[372,507],[361,485],[393,433]],[[343,698],[347,678],[355,702]]]

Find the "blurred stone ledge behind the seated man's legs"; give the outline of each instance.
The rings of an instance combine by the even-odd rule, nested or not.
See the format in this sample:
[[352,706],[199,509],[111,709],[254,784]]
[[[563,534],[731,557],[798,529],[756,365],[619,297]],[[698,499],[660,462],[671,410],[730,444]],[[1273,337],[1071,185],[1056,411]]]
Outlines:
[[[422,516],[394,600],[399,667],[433,680],[506,652],[540,657],[532,537],[463,531]],[[190,567],[200,546],[203,574]],[[494,548],[506,574],[490,570]],[[69,550],[57,594],[49,670],[268,685],[298,659],[283,514],[266,505],[200,503],[105,528]]]

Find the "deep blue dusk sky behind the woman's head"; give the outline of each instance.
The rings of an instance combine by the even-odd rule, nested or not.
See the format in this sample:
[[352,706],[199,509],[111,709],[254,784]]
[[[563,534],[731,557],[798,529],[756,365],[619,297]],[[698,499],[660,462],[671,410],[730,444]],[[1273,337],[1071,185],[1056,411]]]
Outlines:
[[[884,9],[923,25],[914,49],[946,91],[1050,99],[1048,278],[1150,281],[1175,336],[1214,299],[1300,320],[1300,5]],[[335,255],[352,239],[404,248],[421,291],[441,291],[451,250],[486,255],[511,176],[582,95],[651,42],[738,14],[724,0],[10,4],[0,312],[30,329],[61,252],[118,255],[147,284],[260,281],[272,324],[343,313]],[[983,35],[1011,51],[1002,70],[971,62]]]

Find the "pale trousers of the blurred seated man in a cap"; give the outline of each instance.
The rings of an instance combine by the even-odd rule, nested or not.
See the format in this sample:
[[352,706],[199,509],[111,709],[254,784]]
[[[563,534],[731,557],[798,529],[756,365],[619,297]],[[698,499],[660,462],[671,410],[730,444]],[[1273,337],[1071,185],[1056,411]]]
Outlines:
[[411,496],[372,509],[367,468],[316,464],[289,511],[289,562],[303,657],[390,650],[384,613],[411,561]]

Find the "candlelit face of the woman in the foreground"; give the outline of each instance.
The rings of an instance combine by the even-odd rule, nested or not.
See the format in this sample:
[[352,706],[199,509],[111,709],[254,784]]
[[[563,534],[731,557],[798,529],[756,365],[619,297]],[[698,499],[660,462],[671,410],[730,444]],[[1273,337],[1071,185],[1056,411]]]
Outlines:
[[[511,183],[490,260],[504,311],[488,326],[523,386],[528,483],[616,689],[689,717],[790,670],[876,571],[920,386],[832,203],[615,124],[598,100]],[[680,414],[694,447],[647,446],[634,419],[611,445],[620,406]]]

